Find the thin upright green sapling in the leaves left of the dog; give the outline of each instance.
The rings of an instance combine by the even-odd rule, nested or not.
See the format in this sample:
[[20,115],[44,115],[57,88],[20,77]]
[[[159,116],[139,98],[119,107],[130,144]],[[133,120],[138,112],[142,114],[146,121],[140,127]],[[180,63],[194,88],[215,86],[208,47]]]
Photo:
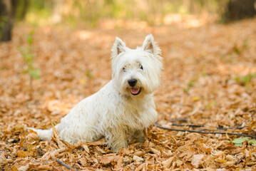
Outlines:
[[40,78],[40,70],[38,68],[34,67],[34,49],[32,47],[32,44],[34,42],[34,31],[30,31],[28,35],[26,35],[26,43],[28,43],[28,46],[22,46],[19,47],[19,52],[21,53],[22,58],[25,61],[25,66],[26,69],[24,70],[24,73],[29,74],[29,95],[32,98],[32,92],[34,90],[33,88],[33,81],[34,79],[39,79]]

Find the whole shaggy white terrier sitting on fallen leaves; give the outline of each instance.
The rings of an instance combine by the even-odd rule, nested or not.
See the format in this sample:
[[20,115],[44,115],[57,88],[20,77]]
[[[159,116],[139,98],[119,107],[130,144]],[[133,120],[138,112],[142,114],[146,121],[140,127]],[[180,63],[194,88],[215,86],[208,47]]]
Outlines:
[[[153,36],[142,47],[130,49],[120,38],[112,48],[112,80],[97,93],[84,98],[56,125],[61,137],[71,144],[103,137],[112,150],[127,147],[128,140],[145,140],[143,129],[157,117],[153,90],[160,84],[160,48]],[[53,130],[29,128],[41,140],[51,140]]]

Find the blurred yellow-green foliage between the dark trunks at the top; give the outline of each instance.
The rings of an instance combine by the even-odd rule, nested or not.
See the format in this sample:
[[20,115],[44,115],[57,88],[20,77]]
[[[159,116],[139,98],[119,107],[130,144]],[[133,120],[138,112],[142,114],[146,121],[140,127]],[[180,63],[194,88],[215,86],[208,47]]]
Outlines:
[[[96,26],[100,19],[137,19],[148,24],[163,22],[167,14],[218,12],[217,0],[30,0],[25,20],[34,25],[86,21]],[[21,19],[24,1],[19,1],[16,18]]]

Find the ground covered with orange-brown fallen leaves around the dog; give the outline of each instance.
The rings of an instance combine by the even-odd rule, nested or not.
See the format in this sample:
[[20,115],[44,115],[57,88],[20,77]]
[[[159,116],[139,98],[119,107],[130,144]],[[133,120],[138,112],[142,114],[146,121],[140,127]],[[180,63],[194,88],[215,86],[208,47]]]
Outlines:
[[[19,25],[11,43],[0,43],[1,169],[67,170],[58,159],[76,170],[256,170],[256,145],[245,140],[242,147],[235,146],[236,135],[154,125],[148,140],[113,153],[104,140],[68,145],[58,133],[43,142],[26,132],[26,127],[51,128],[111,79],[116,36],[135,48],[153,33],[165,68],[155,91],[159,125],[256,135],[256,19],[197,28],[185,23],[114,24],[94,30]],[[26,63],[17,48],[27,46],[26,34],[32,29],[34,68],[41,74],[30,96]]]

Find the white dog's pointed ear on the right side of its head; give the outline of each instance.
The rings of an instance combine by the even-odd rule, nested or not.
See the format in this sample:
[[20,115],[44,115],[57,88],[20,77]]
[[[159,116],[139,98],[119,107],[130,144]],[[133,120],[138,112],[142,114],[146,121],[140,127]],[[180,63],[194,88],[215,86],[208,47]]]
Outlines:
[[155,43],[154,37],[152,34],[149,34],[148,36],[145,37],[142,48],[144,51],[149,51],[150,53],[153,53],[154,55],[158,55],[158,53],[159,53],[159,48],[158,48],[157,44]]

